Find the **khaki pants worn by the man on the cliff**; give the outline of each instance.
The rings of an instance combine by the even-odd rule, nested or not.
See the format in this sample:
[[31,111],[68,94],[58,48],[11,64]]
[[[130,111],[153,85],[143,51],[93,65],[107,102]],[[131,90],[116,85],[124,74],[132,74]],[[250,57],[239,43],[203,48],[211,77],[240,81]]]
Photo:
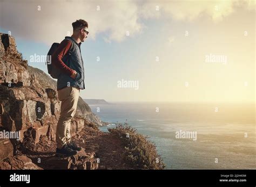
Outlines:
[[56,130],[57,148],[62,148],[66,143],[70,143],[70,123],[76,113],[79,92],[80,89],[76,87],[65,87],[58,90],[58,99],[62,104]]

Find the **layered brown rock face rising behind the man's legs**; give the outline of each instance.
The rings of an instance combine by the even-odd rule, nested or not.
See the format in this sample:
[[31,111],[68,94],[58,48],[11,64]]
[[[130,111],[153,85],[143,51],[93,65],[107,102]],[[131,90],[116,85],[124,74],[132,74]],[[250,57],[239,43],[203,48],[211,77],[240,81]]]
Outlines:
[[[55,140],[60,114],[56,81],[42,70],[28,66],[17,52],[14,37],[0,33],[0,131],[18,132],[19,140],[2,138],[0,134],[0,162],[16,155],[19,142],[36,144],[41,136]],[[77,134],[84,124],[103,124],[79,98],[71,133]],[[32,138],[31,138],[32,137]],[[24,160],[24,158],[23,158]]]

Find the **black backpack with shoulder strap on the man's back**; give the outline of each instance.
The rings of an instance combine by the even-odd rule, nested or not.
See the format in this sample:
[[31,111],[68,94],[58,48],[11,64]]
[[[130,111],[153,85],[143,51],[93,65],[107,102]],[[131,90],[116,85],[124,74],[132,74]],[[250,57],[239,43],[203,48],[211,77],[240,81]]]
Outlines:
[[[71,41],[71,39],[65,39],[65,40]],[[51,45],[51,48],[47,54],[46,62],[45,62],[45,64],[47,64],[48,73],[51,75],[52,78],[58,78],[59,75],[62,74],[62,71],[60,69],[56,68],[55,66],[53,66],[51,63],[51,56],[57,50],[58,47],[59,47],[59,43],[53,43]],[[68,59],[68,57],[71,55],[73,50],[74,50],[73,42],[71,41],[71,48],[69,49],[69,53],[66,53],[62,59],[65,59],[65,60]],[[68,66],[68,64],[66,64],[66,65]]]

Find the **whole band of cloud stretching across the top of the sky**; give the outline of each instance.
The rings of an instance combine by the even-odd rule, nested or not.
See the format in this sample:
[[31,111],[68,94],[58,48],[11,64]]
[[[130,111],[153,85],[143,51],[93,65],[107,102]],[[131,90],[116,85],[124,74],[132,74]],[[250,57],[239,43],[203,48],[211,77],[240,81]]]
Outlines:
[[200,15],[208,15],[213,21],[221,21],[244,6],[255,9],[253,1],[0,1],[0,27],[11,31],[15,37],[44,42],[61,41],[72,33],[71,23],[85,19],[89,23],[89,37],[96,39],[104,33],[104,41],[123,41],[126,32],[130,36],[141,34],[145,19],[170,17],[192,21]]

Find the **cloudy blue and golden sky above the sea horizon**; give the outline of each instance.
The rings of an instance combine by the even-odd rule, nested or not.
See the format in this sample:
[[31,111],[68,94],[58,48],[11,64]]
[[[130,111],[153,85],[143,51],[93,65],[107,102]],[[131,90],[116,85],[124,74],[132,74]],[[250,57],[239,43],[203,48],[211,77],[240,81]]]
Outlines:
[[0,1],[0,32],[46,73],[31,56],[80,18],[84,99],[255,102],[255,1]]

